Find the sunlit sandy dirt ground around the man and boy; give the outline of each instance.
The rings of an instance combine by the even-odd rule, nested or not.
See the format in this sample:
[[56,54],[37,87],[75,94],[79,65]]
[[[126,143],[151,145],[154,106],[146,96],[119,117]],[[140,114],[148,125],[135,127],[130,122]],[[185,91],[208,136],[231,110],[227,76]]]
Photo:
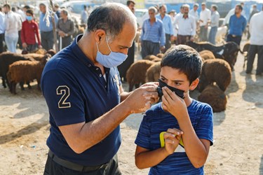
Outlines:
[[[255,70],[246,75],[241,54],[232,75],[227,110],[214,113],[215,144],[205,174],[263,174],[263,76],[255,76]],[[43,174],[50,127],[46,102],[36,85],[17,92],[13,95],[0,85],[0,174]],[[198,92],[191,94],[197,97]],[[137,169],[134,163],[141,120],[137,114],[121,123],[123,143],[118,155],[123,174],[149,171]]]

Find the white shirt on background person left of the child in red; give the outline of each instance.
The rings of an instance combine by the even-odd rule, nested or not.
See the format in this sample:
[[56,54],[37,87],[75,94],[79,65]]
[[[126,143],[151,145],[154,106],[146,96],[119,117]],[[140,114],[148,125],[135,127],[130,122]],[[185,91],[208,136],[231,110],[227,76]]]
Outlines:
[[18,14],[13,13],[13,11],[9,11],[5,16],[5,24],[5,35],[13,38],[18,37],[18,30],[22,27],[22,22],[18,17]]

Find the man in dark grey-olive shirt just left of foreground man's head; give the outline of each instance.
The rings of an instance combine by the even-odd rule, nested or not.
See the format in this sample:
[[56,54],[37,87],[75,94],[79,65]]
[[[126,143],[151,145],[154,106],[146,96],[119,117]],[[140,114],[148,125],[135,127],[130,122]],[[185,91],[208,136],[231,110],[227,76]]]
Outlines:
[[58,35],[60,39],[60,50],[67,47],[72,42],[72,34],[74,34],[74,22],[68,18],[66,9],[62,9],[60,20],[58,20]]

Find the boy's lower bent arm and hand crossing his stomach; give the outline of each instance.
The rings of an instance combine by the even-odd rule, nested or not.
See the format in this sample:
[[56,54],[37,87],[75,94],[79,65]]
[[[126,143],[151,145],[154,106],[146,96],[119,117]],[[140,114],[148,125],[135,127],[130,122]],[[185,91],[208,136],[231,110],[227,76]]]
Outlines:
[[[141,146],[136,147],[135,151],[135,165],[139,169],[154,167],[162,162],[168,155],[174,153],[177,148],[181,135],[183,133],[177,129],[168,129],[163,138],[165,139],[165,146],[154,151],[149,151],[147,148]],[[176,135],[176,136],[175,136]]]

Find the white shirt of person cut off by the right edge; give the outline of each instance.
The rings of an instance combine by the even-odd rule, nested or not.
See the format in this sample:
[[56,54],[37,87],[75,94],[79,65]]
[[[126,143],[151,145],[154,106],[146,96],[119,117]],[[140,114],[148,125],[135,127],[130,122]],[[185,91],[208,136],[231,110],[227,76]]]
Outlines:
[[263,10],[252,16],[250,20],[250,44],[263,45]]

